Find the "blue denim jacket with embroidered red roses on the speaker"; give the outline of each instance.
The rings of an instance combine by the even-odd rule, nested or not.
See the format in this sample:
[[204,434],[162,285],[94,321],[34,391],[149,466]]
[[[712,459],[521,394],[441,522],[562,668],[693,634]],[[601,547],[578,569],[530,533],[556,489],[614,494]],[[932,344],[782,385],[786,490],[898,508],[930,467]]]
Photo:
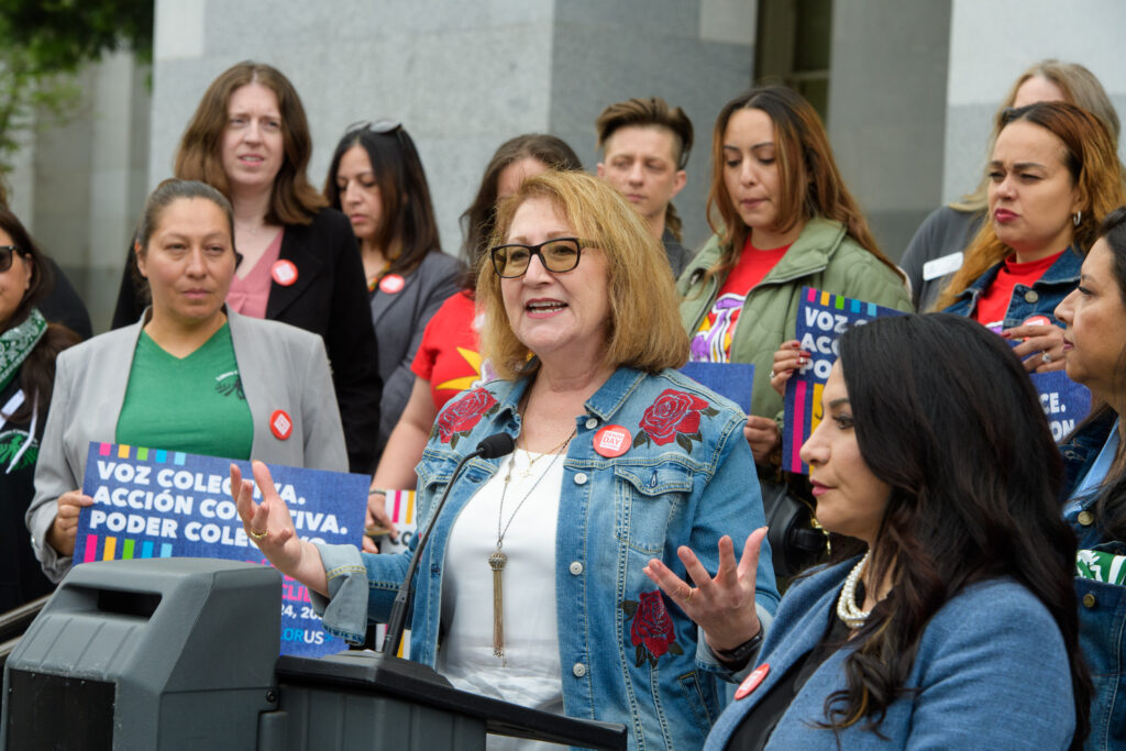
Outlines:
[[[518,403],[528,383],[495,381],[463,392],[441,411],[418,466],[419,528],[430,524],[461,457],[486,436],[519,435]],[[747,536],[763,526],[745,418],[674,370],[646,375],[628,367],[618,368],[586,408],[563,462],[555,538],[564,709],[571,717],[626,724],[631,749],[698,749],[723,704],[715,679],[731,673],[642,567],[660,558],[687,580],[677,557],[687,545],[714,574],[723,535],[731,535],[740,555]],[[625,428],[632,447],[615,458],[596,453],[604,426]],[[434,524],[414,585],[414,661],[434,665],[440,649],[443,562],[454,521],[502,461],[471,459]],[[390,615],[409,554],[320,549],[331,596],[324,627],[358,641],[368,618]],[[482,575],[490,575],[484,562]],[[766,627],[779,597],[765,542],[757,576]]]

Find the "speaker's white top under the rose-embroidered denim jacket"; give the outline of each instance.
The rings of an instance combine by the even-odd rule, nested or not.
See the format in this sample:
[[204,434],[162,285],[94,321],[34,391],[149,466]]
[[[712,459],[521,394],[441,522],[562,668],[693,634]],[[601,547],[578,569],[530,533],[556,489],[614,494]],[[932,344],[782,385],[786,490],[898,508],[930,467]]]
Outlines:
[[[512,480],[501,509],[504,477],[510,470]],[[517,449],[454,521],[443,578],[445,637],[436,667],[455,688],[563,714],[555,618],[555,527],[562,486],[562,454]],[[492,649],[493,574],[489,565],[489,556],[497,549],[499,515],[501,529],[508,525],[502,546],[508,555],[502,572],[503,663]],[[490,735],[488,748],[560,746]]]

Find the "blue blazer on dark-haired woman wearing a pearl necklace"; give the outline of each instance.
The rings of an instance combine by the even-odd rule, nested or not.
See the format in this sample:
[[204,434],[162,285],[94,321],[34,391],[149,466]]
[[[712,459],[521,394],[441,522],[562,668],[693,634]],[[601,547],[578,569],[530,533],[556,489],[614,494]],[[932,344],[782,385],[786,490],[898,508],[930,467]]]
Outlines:
[[[835,611],[841,584],[857,560],[799,579],[786,592],[758,663],[770,671],[733,701],[708,735],[706,750],[726,746],[747,713],[794,662],[816,645]],[[849,647],[831,655],[794,697],[768,749],[837,749],[824,701],[844,689]],[[844,749],[1066,749],[1075,730],[1071,671],[1063,638],[1036,597],[1011,579],[966,588],[928,624],[906,685],[919,689],[887,707],[886,741],[861,723],[839,733]]]

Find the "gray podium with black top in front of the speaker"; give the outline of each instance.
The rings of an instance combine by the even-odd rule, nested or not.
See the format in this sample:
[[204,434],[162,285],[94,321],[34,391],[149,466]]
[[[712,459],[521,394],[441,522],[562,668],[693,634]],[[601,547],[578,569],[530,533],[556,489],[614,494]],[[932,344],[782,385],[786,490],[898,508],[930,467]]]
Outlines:
[[458,691],[425,665],[278,658],[282,578],[213,558],[73,569],[5,665],[0,750],[626,748],[623,725]]

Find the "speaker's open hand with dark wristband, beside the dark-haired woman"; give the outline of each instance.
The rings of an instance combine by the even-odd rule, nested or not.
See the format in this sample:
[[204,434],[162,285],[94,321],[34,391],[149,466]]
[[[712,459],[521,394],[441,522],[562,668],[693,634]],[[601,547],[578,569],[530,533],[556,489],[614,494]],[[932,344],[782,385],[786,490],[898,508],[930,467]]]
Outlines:
[[708,574],[692,551],[683,545],[677,556],[685,564],[691,587],[658,558],[643,569],[680,609],[704,629],[713,650],[733,650],[759,633],[761,625],[754,611],[754,574],[759,565],[759,551],[767,536],[767,528],[752,531],[743,545],[743,555],[735,561],[735,546],[731,537],[720,538],[720,569],[715,576]]

